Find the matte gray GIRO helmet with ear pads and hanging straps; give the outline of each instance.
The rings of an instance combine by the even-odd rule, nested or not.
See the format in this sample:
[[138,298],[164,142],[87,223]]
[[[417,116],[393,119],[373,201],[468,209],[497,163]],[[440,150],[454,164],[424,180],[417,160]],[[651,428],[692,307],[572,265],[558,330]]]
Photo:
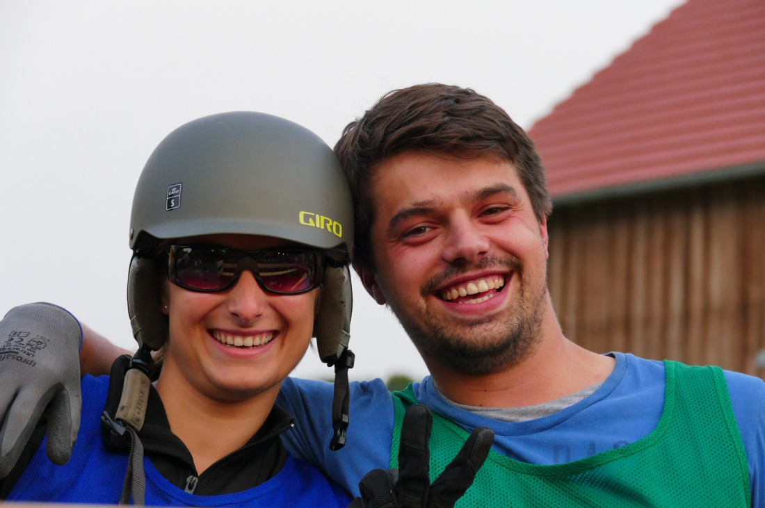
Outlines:
[[161,141],[138,180],[130,218],[128,310],[138,353],[144,351],[133,367],[144,370],[148,350],[168,337],[157,290],[158,247],[211,234],[265,235],[330,251],[314,337],[321,360],[335,367],[330,447],[342,447],[353,367],[347,349],[353,205],[330,147],[301,125],[256,112],[199,118]]

